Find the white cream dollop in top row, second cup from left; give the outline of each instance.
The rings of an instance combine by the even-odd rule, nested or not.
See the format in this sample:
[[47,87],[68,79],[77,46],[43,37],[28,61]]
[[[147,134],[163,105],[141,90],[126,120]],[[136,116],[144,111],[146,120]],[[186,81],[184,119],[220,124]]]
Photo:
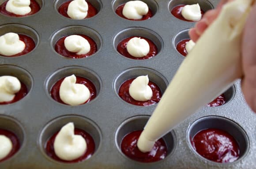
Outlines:
[[88,14],[88,4],[85,0],[72,0],[67,13],[72,19],[84,19]]

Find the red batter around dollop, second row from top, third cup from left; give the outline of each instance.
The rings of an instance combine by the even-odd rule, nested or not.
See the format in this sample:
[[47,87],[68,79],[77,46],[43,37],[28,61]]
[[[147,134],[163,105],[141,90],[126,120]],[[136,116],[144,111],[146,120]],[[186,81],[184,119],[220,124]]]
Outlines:
[[127,58],[130,58],[130,59],[136,59],[136,60],[143,60],[143,59],[150,59],[150,58],[153,58],[155,55],[157,55],[158,53],[158,49],[156,47],[156,45],[149,39],[145,38],[145,37],[140,37],[141,39],[145,39],[147,40],[147,43],[149,44],[149,52],[146,56],[142,57],[142,58],[136,58],[136,57],[133,57],[132,55],[130,55],[127,51],[127,43],[130,39],[132,39],[134,37],[128,37],[122,41],[120,41],[120,43],[117,45],[117,51],[127,57]]

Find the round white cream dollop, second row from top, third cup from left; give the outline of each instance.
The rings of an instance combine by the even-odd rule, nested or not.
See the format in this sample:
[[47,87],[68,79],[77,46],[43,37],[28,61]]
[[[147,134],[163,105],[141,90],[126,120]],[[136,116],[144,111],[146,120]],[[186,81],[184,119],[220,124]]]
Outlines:
[[136,58],[142,58],[149,53],[150,46],[145,39],[133,37],[127,43],[127,51],[130,55]]

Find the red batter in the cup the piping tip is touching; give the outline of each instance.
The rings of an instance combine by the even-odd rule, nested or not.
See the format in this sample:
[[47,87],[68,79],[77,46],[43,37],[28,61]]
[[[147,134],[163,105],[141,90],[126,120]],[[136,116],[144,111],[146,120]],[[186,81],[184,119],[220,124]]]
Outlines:
[[157,162],[166,157],[167,146],[163,139],[159,139],[151,152],[143,153],[137,147],[137,141],[142,131],[134,131],[124,136],[121,142],[122,152],[129,158],[139,162]]

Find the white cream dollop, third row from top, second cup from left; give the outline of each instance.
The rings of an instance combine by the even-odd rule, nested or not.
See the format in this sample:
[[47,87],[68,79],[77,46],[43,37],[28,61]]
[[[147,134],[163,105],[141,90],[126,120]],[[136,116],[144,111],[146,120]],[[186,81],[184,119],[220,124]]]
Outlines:
[[71,106],[85,103],[90,98],[90,91],[84,84],[76,84],[75,75],[64,78],[60,84],[60,99]]

